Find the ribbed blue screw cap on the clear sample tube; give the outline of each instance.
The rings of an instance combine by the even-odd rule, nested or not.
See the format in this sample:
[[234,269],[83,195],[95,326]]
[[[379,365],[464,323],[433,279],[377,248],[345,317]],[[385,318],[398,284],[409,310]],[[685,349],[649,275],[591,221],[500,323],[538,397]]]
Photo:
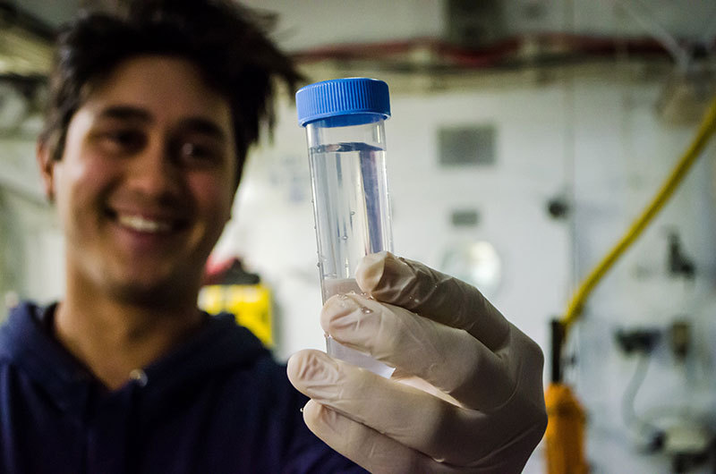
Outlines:
[[354,114],[390,116],[388,84],[370,78],[323,80],[296,92],[298,123],[308,123],[329,117]]

